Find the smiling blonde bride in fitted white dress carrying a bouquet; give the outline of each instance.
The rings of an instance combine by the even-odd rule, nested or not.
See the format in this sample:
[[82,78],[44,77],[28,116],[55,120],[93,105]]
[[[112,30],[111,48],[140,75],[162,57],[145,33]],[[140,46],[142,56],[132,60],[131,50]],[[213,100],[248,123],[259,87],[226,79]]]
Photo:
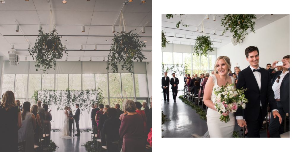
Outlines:
[[[207,126],[210,137],[232,137],[234,125],[235,125],[235,116],[234,113],[219,114],[215,109],[214,103],[216,102],[216,95],[214,94],[213,88],[226,85],[226,82],[229,84],[234,83],[234,78],[230,77],[229,71],[231,69],[231,63],[229,57],[220,56],[216,59],[214,65],[214,71],[218,71],[218,74],[211,75],[204,88],[204,103],[208,106],[207,110]],[[219,117],[221,115],[230,117],[230,121],[225,123],[220,121]]]

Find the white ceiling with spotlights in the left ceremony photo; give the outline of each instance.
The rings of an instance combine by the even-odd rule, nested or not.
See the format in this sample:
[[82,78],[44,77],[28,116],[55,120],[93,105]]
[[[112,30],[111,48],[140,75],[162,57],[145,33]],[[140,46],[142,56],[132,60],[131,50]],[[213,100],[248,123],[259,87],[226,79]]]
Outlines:
[[[66,44],[68,61],[102,61],[109,54],[112,33],[112,25],[119,16],[126,0],[67,0],[63,4],[61,0],[6,0],[0,4],[0,56],[8,60],[8,51],[12,51],[12,44],[15,45],[16,54],[20,60],[29,56],[28,43],[34,46],[38,35],[38,28],[41,24],[43,30],[52,30],[50,26],[50,8],[54,18],[54,24],[59,36],[62,36],[61,43]],[[140,40],[147,41],[143,54],[147,58],[144,61],[152,61],[152,2],[142,4],[140,0],[123,7],[123,16],[126,22],[126,32],[134,30],[141,36]],[[16,22],[19,24],[19,32],[16,32]],[[119,28],[120,16],[115,26]],[[141,33],[142,26],[145,26],[146,33]],[[85,32],[81,32],[81,26],[85,26]],[[25,36],[23,36],[23,34]],[[26,41],[28,40],[28,41]],[[83,44],[83,50],[80,45]],[[94,45],[97,44],[97,50]],[[27,60],[32,60],[27,57]],[[63,57],[62,60],[65,60]]]

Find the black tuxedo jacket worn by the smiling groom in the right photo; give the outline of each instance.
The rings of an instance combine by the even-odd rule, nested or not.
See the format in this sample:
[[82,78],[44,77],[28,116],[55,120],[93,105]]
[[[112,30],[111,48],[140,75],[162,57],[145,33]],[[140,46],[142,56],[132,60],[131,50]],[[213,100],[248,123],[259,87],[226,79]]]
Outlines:
[[243,110],[239,108],[236,112],[236,116],[243,116],[245,120],[253,121],[257,120],[260,112],[260,105],[262,103],[262,117],[267,114],[267,105],[271,111],[278,109],[275,101],[275,94],[272,90],[271,78],[267,70],[261,68],[261,91],[257,85],[257,81],[254,77],[251,68],[248,66],[244,70],[240,71],[239,78],[237,80],[237,88],[247,88],[245,91],[245,98],[248,99],[246,108]]

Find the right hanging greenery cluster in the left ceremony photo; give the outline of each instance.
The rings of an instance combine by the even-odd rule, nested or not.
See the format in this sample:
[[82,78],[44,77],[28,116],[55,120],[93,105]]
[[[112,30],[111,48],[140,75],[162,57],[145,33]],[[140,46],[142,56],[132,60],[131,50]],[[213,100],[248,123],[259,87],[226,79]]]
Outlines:
[[[137,33],[132,33],[132,31],[114,34],[106,69],[109,70],[109,65],[111,65],[112,73],[118,73],[119,64],[122,70],[126,69],[131,74],[134,74],[133,61],[141,62],[147,59],[141,52],[143,47],[146,47],[146,44],[140,41],[139,38],[140,36]],[[119,62],[123,62],[123,64]]]

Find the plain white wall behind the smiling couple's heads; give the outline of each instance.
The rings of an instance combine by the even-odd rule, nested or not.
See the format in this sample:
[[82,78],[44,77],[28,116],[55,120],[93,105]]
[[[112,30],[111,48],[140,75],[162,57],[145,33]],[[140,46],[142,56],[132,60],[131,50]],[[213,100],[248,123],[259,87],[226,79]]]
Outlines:
[[219,48],[217,57],[228,56],[232,67],[238,66],[243,70],[249,66],[244,53],[249,46],[259,49],[259,65],[264,68],[266,64],[272,64],[275,60],[281,61],[285,55],[289,55],[289,15],[245,36],[240,46],[229,43]]

